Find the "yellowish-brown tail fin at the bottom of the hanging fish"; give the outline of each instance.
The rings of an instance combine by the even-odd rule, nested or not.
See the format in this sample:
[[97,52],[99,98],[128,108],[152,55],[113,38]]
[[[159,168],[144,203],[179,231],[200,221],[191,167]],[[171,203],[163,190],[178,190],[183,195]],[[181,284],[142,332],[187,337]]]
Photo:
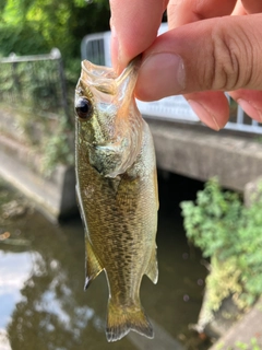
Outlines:
[[142,306],[122,306],[108,302],[107,315],[107,341],[117,341],[123,338],[130,330],[134,330],[147,338],[154,338],[153,327]]

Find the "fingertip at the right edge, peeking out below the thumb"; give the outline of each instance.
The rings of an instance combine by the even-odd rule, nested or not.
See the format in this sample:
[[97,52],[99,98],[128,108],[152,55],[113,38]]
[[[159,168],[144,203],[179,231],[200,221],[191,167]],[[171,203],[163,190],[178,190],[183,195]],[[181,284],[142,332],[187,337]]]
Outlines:
[[262,91],[240,89],[230,91],[229,95],[237,101],[247,115],[262,122]]

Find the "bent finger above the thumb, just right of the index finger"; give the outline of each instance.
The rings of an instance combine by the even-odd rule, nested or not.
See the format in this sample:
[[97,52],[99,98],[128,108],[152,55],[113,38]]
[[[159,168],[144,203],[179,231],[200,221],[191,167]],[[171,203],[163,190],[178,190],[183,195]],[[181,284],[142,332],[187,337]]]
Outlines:
[[170,0],[167,7],[168,26],[230,14],[236,0]]

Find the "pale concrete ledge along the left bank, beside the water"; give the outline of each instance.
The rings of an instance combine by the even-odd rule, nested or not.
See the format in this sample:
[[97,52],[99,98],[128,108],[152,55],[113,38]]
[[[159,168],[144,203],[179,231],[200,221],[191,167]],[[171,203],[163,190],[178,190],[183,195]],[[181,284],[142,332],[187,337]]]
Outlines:
[[74,214],[74,168],[58,165],[49,177],[39,173],[39,156],[17,141],[0,135],[0,175],[32,198],[52,221]]

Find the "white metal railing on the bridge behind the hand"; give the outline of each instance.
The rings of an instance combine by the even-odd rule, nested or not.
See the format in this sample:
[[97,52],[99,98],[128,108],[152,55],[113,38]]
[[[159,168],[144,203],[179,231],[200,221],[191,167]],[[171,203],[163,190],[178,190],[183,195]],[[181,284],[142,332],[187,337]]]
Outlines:
[[[158,34],[167,31],[167,24],[162,24]],[[86,35],[81,45],[82,59],[88,59],[93,63],[111,66],[110,59],[110,32]],[[229,96],[229,121],[225,126],[228,130],[249,133],[262,133],[262,124],[248,117],[248,115]],[[163,120],[176,120],[180,122],[201,124],[198,116],[191,109],[182,96],[166,97],[160,101],[144,103],[138,101],[138,106],[144,116]]]

